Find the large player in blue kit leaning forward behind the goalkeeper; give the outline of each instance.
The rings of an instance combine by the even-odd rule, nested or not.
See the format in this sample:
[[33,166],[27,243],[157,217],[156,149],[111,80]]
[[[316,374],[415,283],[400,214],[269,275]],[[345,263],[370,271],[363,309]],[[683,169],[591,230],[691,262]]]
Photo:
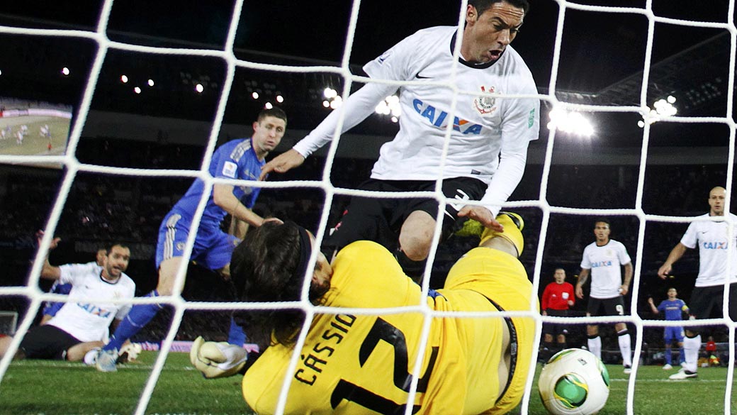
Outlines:
[[[259,179],[266,156],[282,141],[286,128],[287,114],[284,114],[282,109],[263,110],[254,122],[254,135],[250,139],[232,140],[214,151],[209,174],[223,179]],[[192,261],[218,272],[225,279],[230,278],[231,253],[239,242],[237,236],[242,235],[228,235],[220,230],[220,222],[230,214],[234,219],[251,226],[261,226],[265,219],[251,211],[259,190],[260,188],[251,188],[247,185],[217,183],[213,186],[200,226],[196,230]],[[172,207],[167,216],[164,216],[156,244],[158,285],[147,295],[148,297],[175,294],[176,272],[181,264],[184,245],[192,230],[192,217],[195,215],[203,191],[204,182],[195,179],[179,202]],[[97,370],[116,371],[115,362],[122,344],[146,326],[159,309],[161,309],[159,304],[133,306],[111,337],[110,343],[105,345],[97,356]]]

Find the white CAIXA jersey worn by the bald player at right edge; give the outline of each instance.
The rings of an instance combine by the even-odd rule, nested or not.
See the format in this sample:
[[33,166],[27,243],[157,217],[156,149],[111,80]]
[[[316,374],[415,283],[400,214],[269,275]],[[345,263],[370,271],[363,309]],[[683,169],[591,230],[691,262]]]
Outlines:
[[[709,214],[699,217],[709,217]],[[730,213],[737,224],[737,216]],[[696,287],[710,287],[724,284],[727,275],[727,253],[732,250],[731,281],[737,281],[737,227],[730,242],[727,236],[727,222],[696,221],[688,225],[681,243],[691,249],[699,245],[699,276]],[[735,225],[733,225],[735,226]]]

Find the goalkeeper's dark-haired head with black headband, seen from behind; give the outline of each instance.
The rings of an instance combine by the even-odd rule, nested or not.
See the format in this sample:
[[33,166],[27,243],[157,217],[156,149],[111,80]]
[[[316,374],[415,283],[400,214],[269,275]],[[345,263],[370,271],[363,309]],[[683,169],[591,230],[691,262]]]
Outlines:
[[[240,301],[299,301],[314,239],[293,222],[266,222],[248,232],[231,258],[231,281]],[[318,251],[312,272],[309,298],[320,303],[330,289],[332,267]],[[270,343],[271,335],[282,344],[296,340],[304,321],[301,310],[238,312],[236,319],[248,338],[259,346]]]

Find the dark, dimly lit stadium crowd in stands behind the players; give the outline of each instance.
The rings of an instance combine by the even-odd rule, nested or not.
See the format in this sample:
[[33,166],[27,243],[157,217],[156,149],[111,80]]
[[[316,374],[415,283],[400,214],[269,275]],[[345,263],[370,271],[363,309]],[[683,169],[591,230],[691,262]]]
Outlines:
[[[136,151],[130,151],[135,145]],[[189,168],[198,169],[203,147],[196,145],[166,145],[164,143],[130,143],[124,140],[83,138],[77,151],[80,162],[130,168]],[[325,160],[310,157],[305,164],[287,174],[273,176],[272,180],[321,178]],[[336,159],[332,166],[332,184],[336,188],[356,188],[360,178],[368,176],[373,160]],[[25,284],[29,272],[29,259],[35,255],[35,230],[45,226],[50,207],[55,202],[58,188],[63,179],[62,170],[4,166],[0,170],[0,258],[7,264],[2,285]],[[542,167],[529,165],[525,176],[511,200],[535,200],[539,197],[539,177]],[[547,199],[550,205],[590,208],[632,208],[635,205],[638,167],[630,165],[556,165],[551,168]],[[134,246],[129,274],[139,284],[138,291],[147,292],[153,269],[153,241],[156,241],[158,224],[171,205],[186,191],[192,179],[114,176],[102,174],[77,174],[74,185],[66,197],[66,203],[56,234],[62,237],[60,252],[52,255],[52,261],[88,261],[91,254],[78,247],[102,246],[114,239],[126,241]],[[714,183],[726,182],[726,171],[719,165],[648,166],[643,191],[643,207],[646,213],[666,216],[696,216],[703,210],[704,189]],[[575,192],[571,189],[576,189]],[[581,197],[580,195],[584,195]],[[333,200],[328,227],[338,222],[340,213],[349,198],[340,194]],[[324,204],[324,192],[319,188],[265,188],[259,196],[254,211],[262,216],[276,216],[304,224],[307,229],[317,230]],[[529,275],[533,275],[534,259],[537,255],[539,227],[542,213],[534,207],[520,209],[525,217],[525,252],[520,257]],[[574,215],[551,215],[545,238],[542,278],[539,293],[552,281],[553,269],[564,268],[570,282],[577,278],[580,255],[583,247],[593,240],[591,222],[593,217]],[[612,237],[621,241],[631,253],[636,252],[640,222],[629,216],[612,219]],[[686,224],[649,222],[646,225],[645,248],[638,313],[643,318],[655,318],[649,311],[646,300],[665,290],[664,284],[677,287],[682,298],[688,298],[693,287],[693,278],[698,271],[698,255],[686,255],[679,263],[677,277],[661,283],[655,278],[657,267],[668,255],[668,250],[682,235]],[[464,237],[451,238],[441,244],[433,262],[431,285],[442,284],[436,278],[444,275],[453,261],[477,241]],[[65,248],[66,245],[66,248]],[[139,247],[136,249],[135,246]],[[142,247],[142,248],[141,248]],[[633,255],[634,258],[634,255]],[[213,284],[217,277],[196,266],[191,272],[198,275],[188,278],[184,296],[197,298],[197,284]],[[145,278],[144,278],[145,277]],[[155,279],[155,278],[154,278]],[[139,280],[141,282],[139,282]],[[191,281],[190,281],[191,280]],[[656,281],[657,280],[657,281]],[[144,284],[142,282],[145,281]],[[224,300],[227,287],[220,289]],[[662,295],[661,295],[662,297]],[[206,301],[217,301],[208,298]],[[627,309],[631,306],[631,295],[627,295]],[[0,309],[23,311],[25,300],[0,298]],[[583,315],[585,303],[576,303],[571,315]],[[217,314],[217,313],[216,313]],[[223,313],[220,313],[223,314]],[[199,317],[198,317],[199,316]],[[193,326],[203,313],[187,313],[178,337],[191,337]],[[209,317],[208,317],[209,318]],[[167,329],[170,317],[167,313],[156,318],[153,325],[142,332],[141,340],[161,338]],[[192,319],[195,322],[192,322]],[[206,325],[210,326],[210,325]],[[227,325],[215,325],[209,338],[226,337]],[[219,330],[222,330],[220,332]],[[201,332],[201,330],[200,330]],[[646,343],[662,343],[661,330],[646,330]],[[200,333],[201,334],[201,333]],[[649,336],[652,335],[652,339]],[[585,343],[583,326],[574,326],[567,343],[580,346]]]

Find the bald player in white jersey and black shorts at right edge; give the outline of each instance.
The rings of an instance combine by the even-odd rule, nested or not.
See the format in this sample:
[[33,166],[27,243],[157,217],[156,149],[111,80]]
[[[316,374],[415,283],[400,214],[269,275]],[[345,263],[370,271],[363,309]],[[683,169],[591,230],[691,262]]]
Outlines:
[[[710,216],[725,216],[724,201],[727,191],[717,186],[709,192],[709,213],[699,218]],[[688,230],[681,241],[668,254],[666,262],[657,270],[660,278],[667,278],[673,264],[678,261],[687,249],[699,247],[699,275],[696,277],[694,291],[691,292],[690,312],[691,318],[710,318],[716,313],[716,318],[722,318],[722,301],[724,295],[725,278],[730,281],[729,293],[729,317],[737,320],[737,216],[728,213],[731,224],[726,221],[714,222],[710,220],[696,220],[688,225]],[[727,218],[724,218],[727,219]],[[733,227],[732,235],[728,227]],[[728,267],[727,258],[732,252],[732,264]],[[688,379],[696,377],[698,367],[699,348],[701,347],[701,335],[696,327],[685,328],[686,337],[683,339],[683,351],[685,354],[685,367],[671,379]]]

